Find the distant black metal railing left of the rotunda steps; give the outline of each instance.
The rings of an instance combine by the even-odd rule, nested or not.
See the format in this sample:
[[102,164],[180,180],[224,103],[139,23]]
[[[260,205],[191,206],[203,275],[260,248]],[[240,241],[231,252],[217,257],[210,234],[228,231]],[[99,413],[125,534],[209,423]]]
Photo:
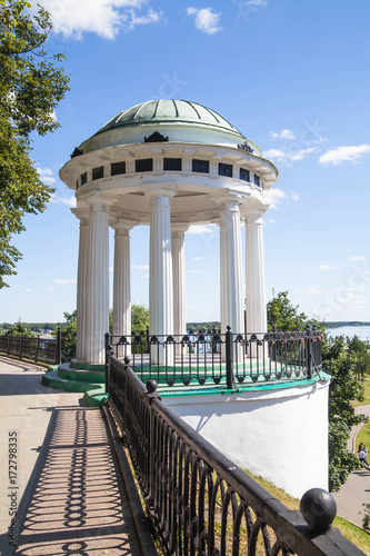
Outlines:
[[56,338],[0,336],[0,354],[34,363],[59,365],[61,361],[60,329]]

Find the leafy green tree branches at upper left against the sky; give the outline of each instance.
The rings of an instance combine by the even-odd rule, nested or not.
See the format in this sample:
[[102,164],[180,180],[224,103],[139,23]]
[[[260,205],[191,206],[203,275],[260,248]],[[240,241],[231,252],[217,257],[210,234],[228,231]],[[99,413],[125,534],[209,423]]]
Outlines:
[[43,9],[32,16],[26,0],[0,0],[0,288],[16,274],[20,251],[13,234],[26,214],[46,209],[53,189],[42,183],[30,159],[30,133],[44,136],[59,123],[54,108],[69,78],[57,67],[62,54],[44,49],[52,24]]

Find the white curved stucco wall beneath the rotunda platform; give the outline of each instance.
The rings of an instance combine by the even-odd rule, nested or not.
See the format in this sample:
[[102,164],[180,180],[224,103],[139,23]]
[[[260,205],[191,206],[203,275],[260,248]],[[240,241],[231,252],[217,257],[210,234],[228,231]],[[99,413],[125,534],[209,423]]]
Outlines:
[[162,400],[240,467],[292,496],[328,490],[329,381]]

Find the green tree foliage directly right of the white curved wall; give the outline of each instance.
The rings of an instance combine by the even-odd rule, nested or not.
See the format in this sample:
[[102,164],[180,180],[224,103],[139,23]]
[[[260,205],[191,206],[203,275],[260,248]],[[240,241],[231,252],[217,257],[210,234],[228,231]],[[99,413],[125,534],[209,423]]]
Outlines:
[[339,490],[349,474],[359,466],[358,458],[347,449],[351,428],[364,423],[351,400],[363,399],[363,386],[356,378],[357,357],[347,349],[343,337],[323,346],[323,367],[331,376],[329,389],[329,489]]

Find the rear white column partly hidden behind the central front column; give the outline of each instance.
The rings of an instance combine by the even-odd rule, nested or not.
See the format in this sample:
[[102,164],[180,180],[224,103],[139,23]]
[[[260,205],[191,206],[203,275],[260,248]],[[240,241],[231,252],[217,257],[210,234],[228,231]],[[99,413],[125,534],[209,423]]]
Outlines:
[[173,334],[176,335],[187,332],[184,232],[188,229],[189,226],[172,225]]

